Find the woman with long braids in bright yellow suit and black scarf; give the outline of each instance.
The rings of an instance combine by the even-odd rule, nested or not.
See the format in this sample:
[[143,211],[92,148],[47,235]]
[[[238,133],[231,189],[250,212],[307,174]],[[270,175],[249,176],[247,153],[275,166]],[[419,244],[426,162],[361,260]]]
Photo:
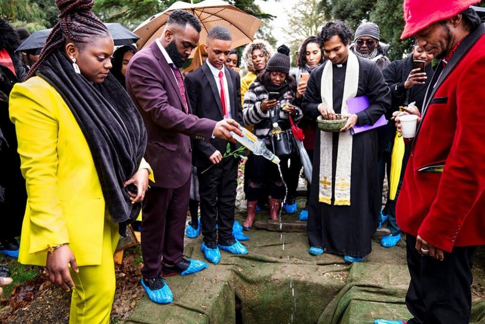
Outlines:
[[113,39],[93,0],[56,4],[60,22],[10,97],[28,193],[19,261],[46,266],[53,283],[72,290],[70,323],[109,323],[113,253],[151,173],[147,135],[108,74]]

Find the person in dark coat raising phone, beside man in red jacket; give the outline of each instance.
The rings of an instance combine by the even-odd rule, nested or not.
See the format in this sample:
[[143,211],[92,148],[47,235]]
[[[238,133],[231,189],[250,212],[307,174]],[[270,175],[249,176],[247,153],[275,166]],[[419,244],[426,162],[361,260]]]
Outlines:
[[[415,102],[416,107],[421,112],[423,106],[424,95],[426,89],[433,75],[433,68],[431,61],[433,54],[428,53],[423,48],[419,47],[416,41],[413,45],[413,52],[403,60],[392,62],[387,68],[382,71],[385,82],[391,90],[392,107],[390,113],[399,111],[401,106],[407,106],[411,102]],[[386,116],[387,119],[390,116]],[[392,147],[395,141],[396,127],[394,122],[389,122],[385,128],[385,142],[388,151],[392,152]],[[403,140],[401,137],[399,140]],[[406,170],[406,163],[409,158],[409,146],[405,146],[404,156],[402,158],[401,176],[399,182],[402,182],[404,171]],[[391,162],[392,163],[392,162]],[[388,170],[390,171],[390,165]],[[390,172],[387,174],[390,179]],[[390,180],[389,180],[390,181]],[[394,199],[390,199],[387,195],[387,203],[383,210],[384,218],[380,222],[380,226],[387,219],[387,228],[390,230],[390,235],[386,235],[381,239],[381,245],[384,247],[393,247],[401,239],[401,229],[396,222],[396,201],[399,195],[400,185],[396,192]]]

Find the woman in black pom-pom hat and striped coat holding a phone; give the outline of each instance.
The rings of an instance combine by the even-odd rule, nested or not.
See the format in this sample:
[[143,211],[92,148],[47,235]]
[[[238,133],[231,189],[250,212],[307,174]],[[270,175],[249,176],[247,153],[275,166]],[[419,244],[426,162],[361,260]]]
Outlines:
[[[275,129],[273,123],[277,123],[278,131],[284,131],[290,128],[288,122],[290,115],[295,122],[303,116],[300,107],[294,105],[297,85],[289,75],[290,58],[288,55],[289,49],[284,45],[280,46],[278,52],[269,59],[266,69],[244,95],[244,123],[254,125],[254,134],[262,139],[268,147],[272,147],[270,136],[272,130]],[[279,157],[283,177],[285,177],[288,172],[288,156]],[[252,227],[256,205],[261,196],[261,188],[268,177],[270,180],[269,213],[272,220],[279,218],[281,201],[286,192],[283,179],[274,163],[256,154],[250,154],[248,163],[251,166],[251,174],[246,194],[248,215],[243,223],[243,228],[246,230]]]

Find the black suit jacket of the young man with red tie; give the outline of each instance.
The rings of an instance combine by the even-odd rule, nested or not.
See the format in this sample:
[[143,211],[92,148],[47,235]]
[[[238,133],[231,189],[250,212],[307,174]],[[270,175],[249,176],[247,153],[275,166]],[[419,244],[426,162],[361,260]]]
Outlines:
[[[229,102],[231,118],[242,124],[241,106],[241,79],[239,73],[230,68],[225,68],[227,87],[229,90]],[[207,63],[189,73],[185,77],[192,112],[199,118],[207,118],[215,121],[223,119],[220,94],[217,90],[216,80]],[[226,151],[227,141],[213,138],[210,142],[193,139],[192,163],[198,168],[207,168],[212,163],[209,157],[218,150],[222,155]],[[236,146],[231,144],[231,150]]]

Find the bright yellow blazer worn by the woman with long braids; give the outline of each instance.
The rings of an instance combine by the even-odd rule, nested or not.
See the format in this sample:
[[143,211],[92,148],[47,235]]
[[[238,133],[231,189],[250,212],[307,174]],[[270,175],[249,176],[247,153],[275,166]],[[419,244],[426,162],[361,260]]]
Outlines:
[[[33,77],[14,86],[9,111],[28,195],[18,260],[45,265],[48,245],[68,243],[79,266],[101,264],[103,227],[109,225],[104,198],[91,151],[66,102]],[[143,160],[140,168],[150,165]]]

